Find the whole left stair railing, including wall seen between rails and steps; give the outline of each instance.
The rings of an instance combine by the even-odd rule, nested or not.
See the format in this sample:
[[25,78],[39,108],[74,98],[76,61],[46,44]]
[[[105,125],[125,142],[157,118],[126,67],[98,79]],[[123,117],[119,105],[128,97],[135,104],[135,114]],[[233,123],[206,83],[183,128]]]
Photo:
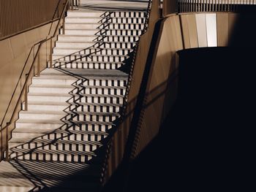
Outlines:
[[[0,124],[1,131],[1,153],[0,161],[5,159],[9,160],[9,145],[8,141],[11,138],[11,131],[15,128],[15,120],[18,119],[18,112],[20,110],[28,110],[28,89],[31,84],[31,79],[34,76],[39,77],[40,72],[45,69],[47,66],[53,66],[53,56],[52,50],[53,45],[57,40],[57,35],[59,31],[64,32],[64,18],[65,13],[71,7],[72,0],[59,0],[57,4],[56,11],[54,12],[53,19],[50,21],[50,29],[48,37],[43,39],[37,44],[31,47],[29,55],[26,59],[26,63],[23,66],[20,77],[15,86],[15,90],[12,93],[10,103],[8,104],[7,110],[4,113],[4,118]],[[61,9],[61,13],[58,13]],[[59,18],[56,18],[56,15],[59,15]],[[10,116],[10,119],[7,116]],[[4,122],[6,125],[4,125]]]

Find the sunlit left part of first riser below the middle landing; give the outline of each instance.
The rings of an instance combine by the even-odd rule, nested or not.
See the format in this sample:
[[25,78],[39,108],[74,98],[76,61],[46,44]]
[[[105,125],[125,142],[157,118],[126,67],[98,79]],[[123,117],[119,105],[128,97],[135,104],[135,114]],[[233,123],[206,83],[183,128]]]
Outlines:
[[48,79],[46,78],[33,78],[33,85],[72,85],[76,80],[64,80],[64,79]]

